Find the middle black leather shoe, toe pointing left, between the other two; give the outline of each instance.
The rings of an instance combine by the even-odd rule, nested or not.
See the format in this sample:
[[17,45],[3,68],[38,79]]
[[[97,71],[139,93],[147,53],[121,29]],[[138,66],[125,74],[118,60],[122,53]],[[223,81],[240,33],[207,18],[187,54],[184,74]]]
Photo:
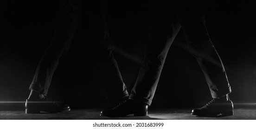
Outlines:
[[122,101],[118,106],[112,109],[102,110],[101,116],[124,117],[130,114],[134,114],[134,116],[147,116],[147,110],[147,105],[140,105],[134,100],[128,99]]

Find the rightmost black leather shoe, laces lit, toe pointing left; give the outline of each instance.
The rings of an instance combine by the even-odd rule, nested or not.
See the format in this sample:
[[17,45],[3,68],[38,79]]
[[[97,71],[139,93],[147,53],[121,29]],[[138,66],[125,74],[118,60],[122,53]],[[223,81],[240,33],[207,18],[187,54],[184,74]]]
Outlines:
[[212,98],[205,106],[193,109],[191,114],[202,117],[232,116],[234,115],[233,103],[231,100]]

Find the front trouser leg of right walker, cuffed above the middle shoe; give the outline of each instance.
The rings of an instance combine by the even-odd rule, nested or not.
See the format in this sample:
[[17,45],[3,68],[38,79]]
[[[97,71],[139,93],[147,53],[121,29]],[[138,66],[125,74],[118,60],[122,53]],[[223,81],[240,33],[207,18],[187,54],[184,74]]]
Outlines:
[[130,98],[151,105],[169,47],[181,28],[172,8],[159,0],[145,45],[144,59]]

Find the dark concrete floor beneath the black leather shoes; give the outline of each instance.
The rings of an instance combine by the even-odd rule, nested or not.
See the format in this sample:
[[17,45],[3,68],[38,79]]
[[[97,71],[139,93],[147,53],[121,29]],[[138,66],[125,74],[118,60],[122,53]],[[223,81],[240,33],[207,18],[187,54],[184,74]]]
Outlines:
[[101,109],[72,109],[62,113],[40,113],[25,114],[25,110],[0,111],[0,119],[9,120],[105,120],[105,119],[130,119],[130,120],[148,120],[148,119],[165,119],[165,120],[256,120],[256,108],[235,108],[234,116],[226,117],[197,117],[190,114],[191,109],[150,109],[148,117],[101,117]]

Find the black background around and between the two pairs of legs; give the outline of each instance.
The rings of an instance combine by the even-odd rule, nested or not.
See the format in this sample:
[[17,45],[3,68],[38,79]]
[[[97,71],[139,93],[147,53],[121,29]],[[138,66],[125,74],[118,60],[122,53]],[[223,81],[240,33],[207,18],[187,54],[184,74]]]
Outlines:
[[[204,4],[206,26],[226,68],[230,99],[235,104],[256,103],[256,3],[252,1],[205,0]],[[58,4],[58,0],[0,0],[0,101],[27,99],[39,59],[53,35]],[[114,56],[130,92],[142,61],[155,0],[106,0],[106,6]],[[48,92],[73,108],[109,106],[94,72],[97,68],[88,61],[89,36],[90,32],[77,30]],[[209,98],[204,75],[180,31],[167,55],[151,107],[195,107]]]

